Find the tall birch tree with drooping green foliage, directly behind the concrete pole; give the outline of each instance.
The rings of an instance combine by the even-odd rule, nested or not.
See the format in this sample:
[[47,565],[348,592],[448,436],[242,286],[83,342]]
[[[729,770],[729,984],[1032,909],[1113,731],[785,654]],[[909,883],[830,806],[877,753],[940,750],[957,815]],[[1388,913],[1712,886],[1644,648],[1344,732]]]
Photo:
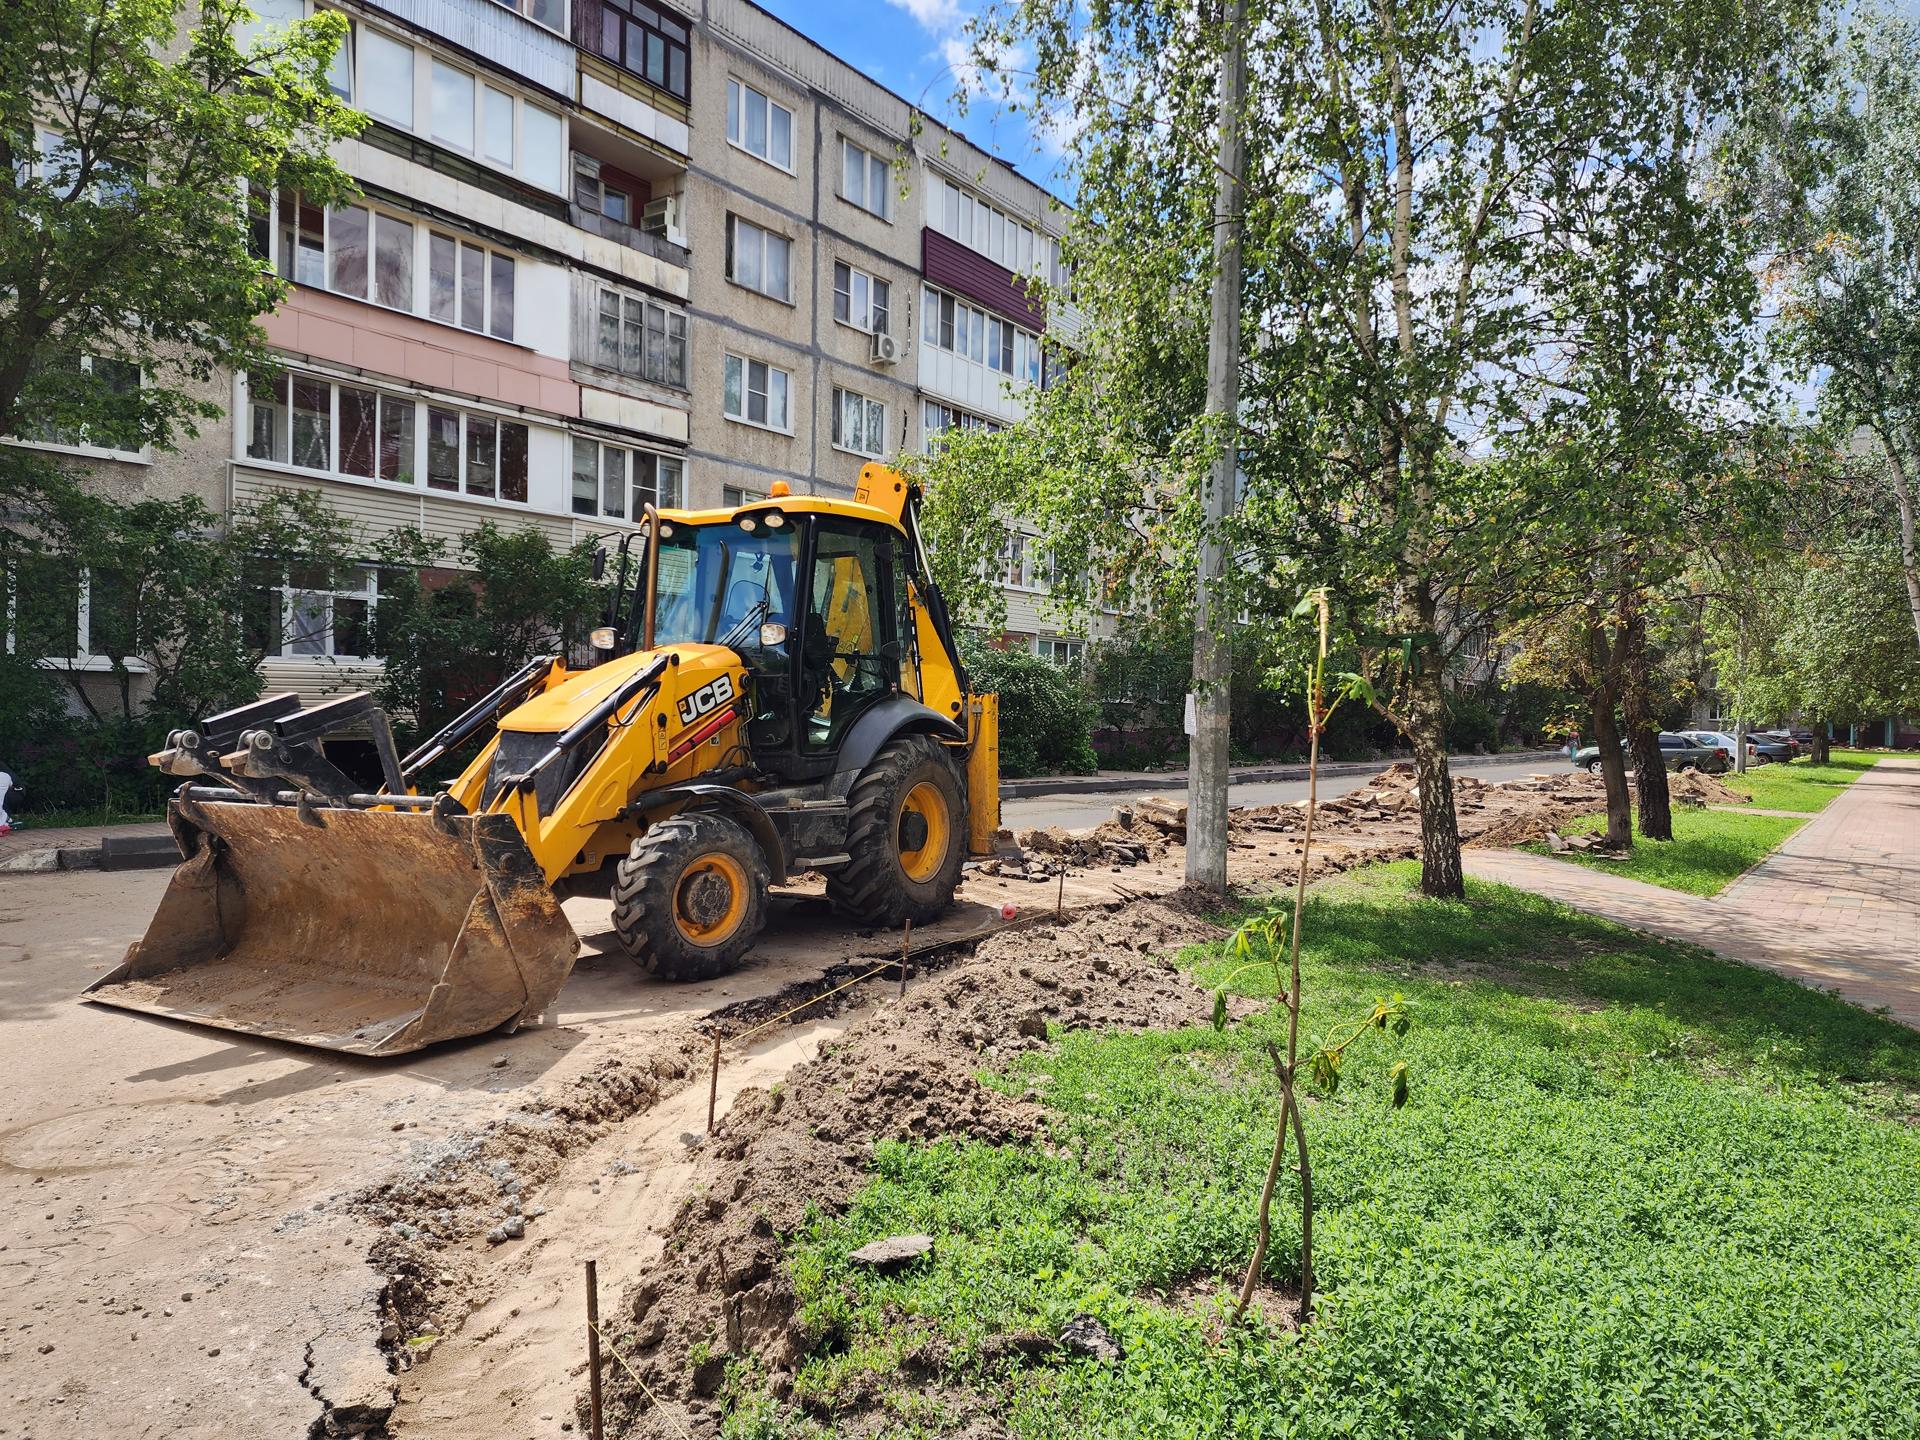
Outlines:
[[[1563,388],[1551,307],[1569,271],[1657,290],[1657,257],[1692,255],[1711,219],[1680,204],[1692,159],[1786,79],[1811,15],[1793,0],[1258,6],[1242,603],[1277,612],[1327,584],[1357,639],[1438,632],[1490,591],[1557,505],[1478,451],[1538,424]],[[929,532],[954,547],[960,589],[981,584],[995,516],[1018,511],[1108,570],[1108,593],[1181,593],[1221,444],[1200,415],[1219,27],[1169,0],[1018,0],[975,44],[987,69],[1010,56],[1033,58],[1027,104],[1071,119],[1083,225],[1068,257],[1087,323],[1027,424],[933,459]],[[1722,284],[1738,246],[1709,238],[1688,324],[1726,334],[1743,319]],[[1379,705],[1421,768],[1425,883],[1459,895],[1444,657],[1411,655],[1377,645]]]

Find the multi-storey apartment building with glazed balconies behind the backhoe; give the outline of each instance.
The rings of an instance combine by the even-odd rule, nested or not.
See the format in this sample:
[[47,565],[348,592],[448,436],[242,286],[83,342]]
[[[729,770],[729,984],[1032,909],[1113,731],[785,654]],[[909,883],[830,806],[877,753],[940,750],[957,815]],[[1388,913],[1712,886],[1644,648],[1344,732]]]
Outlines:
[[[315,0],[253,4],[273,25]],[[1046,192],[747,0],[328,8],[361,196],[244,198],[290,282],[265,319],[286,371],[230,376],[232,424],[177,453],[67,445],[106,486],[301,488],[369,536],[568,545],[647,503],[851,493],[868,459],[1018,420],[1071,326],[1023,282],[1058,275]],[[1043,576],[1016,538],[1010,641],[1073,659]],[[378,588],[372,564],[286,576],[269,687],[369,684]]]

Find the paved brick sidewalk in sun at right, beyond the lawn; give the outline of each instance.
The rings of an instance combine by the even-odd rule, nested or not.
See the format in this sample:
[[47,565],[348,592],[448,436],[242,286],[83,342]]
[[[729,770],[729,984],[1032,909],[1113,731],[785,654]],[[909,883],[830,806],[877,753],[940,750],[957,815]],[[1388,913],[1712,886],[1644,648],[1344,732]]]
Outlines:
[[1887,758],[1713,899],[1524,851],[1467,872],[1668,935],[1920,1029],[1920,762]]

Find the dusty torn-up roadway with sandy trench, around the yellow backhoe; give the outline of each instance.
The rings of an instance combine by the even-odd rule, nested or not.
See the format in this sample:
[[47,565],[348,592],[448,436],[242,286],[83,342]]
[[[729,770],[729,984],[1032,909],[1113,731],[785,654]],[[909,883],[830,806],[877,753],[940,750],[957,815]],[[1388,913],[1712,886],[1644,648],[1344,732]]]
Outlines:
[[[1461,803],[1469,826],[1517,801]],[[1409,852],[1405,791],[1334,810],[1331,864]],[[1283,874],[1296,826],[1248,812],[1233,874]],[[964,902],[916,929],[916,954],[1002,929],[1006,902],[1035,918],[1056,899],[1179,887],[1177,839],[1137,822],[1121,841],[1144,860],[1108,864],[1104,849],[1069,856],[1062,876],[1054,849],[1031,870],[970,870]],[[584,1363],[580,1265],[601,1260],[603,1292],[618,1294],[659,1256],[701,1154],[707,1033],[739,1037],[899,950],[899,935],[851,931],[795,893],[739,973],[660,985],[614,947],[605,900],[572,899],[580,964],[540,1025],[365,1060],[79,1002],[165,883],[0,877],[8,1440],[557,1440]],[[735,1092],[764,1096],[841,1023],[818,1008],[730,1044],[722,1114]],[[490,1242],[509,1221],[515,1233]]]

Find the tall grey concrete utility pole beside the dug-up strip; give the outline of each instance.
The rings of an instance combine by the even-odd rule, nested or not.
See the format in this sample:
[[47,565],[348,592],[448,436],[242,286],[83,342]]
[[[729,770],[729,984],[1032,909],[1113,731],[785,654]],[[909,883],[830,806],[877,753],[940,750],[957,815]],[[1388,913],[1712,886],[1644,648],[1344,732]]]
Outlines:
[[1202,495],[1200,568],[1194,588],[1192,739],[1187,762],[1187,883],[1227,893],[1227,716],[1231,697],[1225,524],[1238,488],[1240,227],[1246,140],[1246,0],[1229,0],[1219,60],[1219,163],[1213,179],[1213,324],[1206,355],[1206,413],[1221,447]]

